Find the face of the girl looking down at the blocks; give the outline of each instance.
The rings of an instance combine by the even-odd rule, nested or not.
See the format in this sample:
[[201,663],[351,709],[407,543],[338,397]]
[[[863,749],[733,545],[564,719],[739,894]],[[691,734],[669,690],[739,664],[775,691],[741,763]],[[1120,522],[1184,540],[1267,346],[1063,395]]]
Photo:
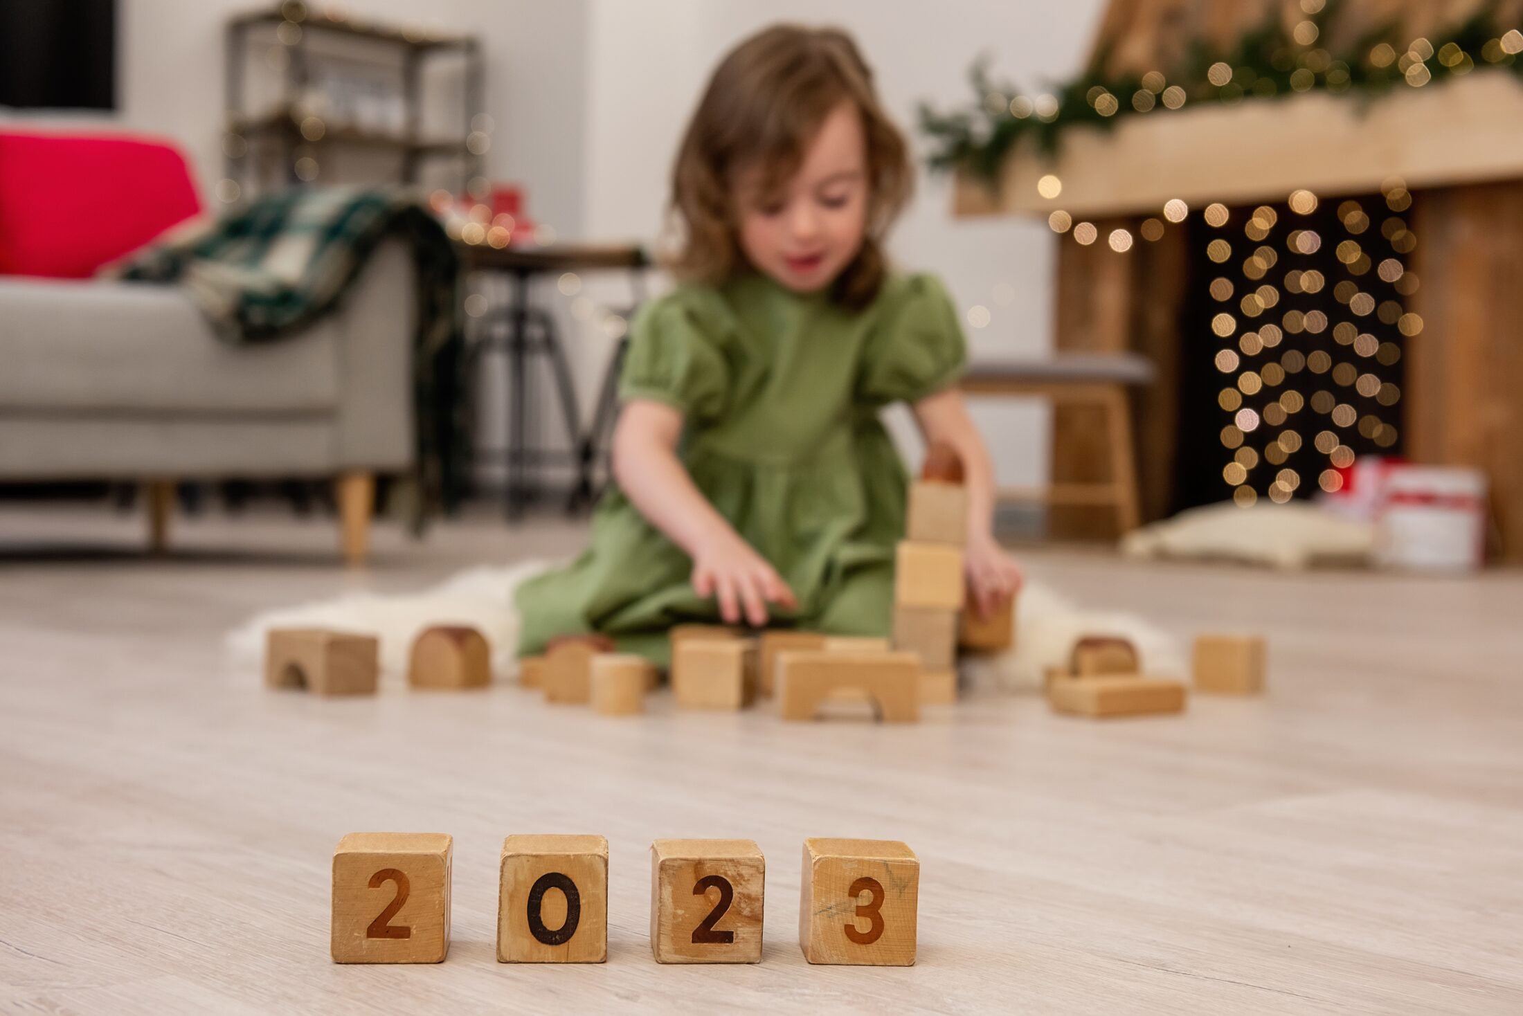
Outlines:
[[842,101],[778,192],[758,171],[742,172],[731,195],[740,248],[751,264],[795,292],[835,280],[856,257],[867,224],[867,140],[856,104]]

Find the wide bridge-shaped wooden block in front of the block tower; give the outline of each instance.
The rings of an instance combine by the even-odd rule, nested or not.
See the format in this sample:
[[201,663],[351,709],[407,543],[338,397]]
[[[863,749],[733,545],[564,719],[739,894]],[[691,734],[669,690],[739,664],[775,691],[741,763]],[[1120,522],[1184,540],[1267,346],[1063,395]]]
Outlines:
[[912,652],[810,652],[778,657],[778,699],[783,719],[813,719],[833,696],[862,695],[879,719],[920,719],[920,660]]

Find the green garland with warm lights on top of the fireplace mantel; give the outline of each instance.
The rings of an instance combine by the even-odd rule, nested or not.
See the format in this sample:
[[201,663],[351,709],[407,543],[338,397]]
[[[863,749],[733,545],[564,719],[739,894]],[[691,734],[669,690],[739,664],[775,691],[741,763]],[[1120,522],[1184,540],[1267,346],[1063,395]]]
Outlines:
[[1302,91],[1374,97],[1397,87],[1424,85],[1483,67],[1506,69],[1523,81],[1523,55],[1518,53],[1523,37],[1497,23],[1496,0],[1488,0],[1441,37],[1427,40],[1427,46],[1422,40],[1397,41],[1398,24],[1389,23],[1366,32],[1346,52],[1330,53],[1317,47],[1316,40],[1327,35],[1343,3],[1302,0],[1302,9],[1311,12],[1290,30],[1279,12],[1270,11],[1226,52],[1197,37],[1188,44],[1173,81],[1165,81],[1159,72],[1106,75],[1103,69],[1110,61],[1103,50],[1083,73],[1054,85],[1037,102],[1007,82],[991,81],[988,59],[981,56],[969,73],[978,96],[973,108],[940,113],[920,104],[920,131],[932,143],[926,163],[934,171],[966,169],[998,186],[1005,155],[1025,137],[1051,157],[1071,128],[1110,129],[1127,116],[1154,110],[1167,114],[1191,104],[1235,104]]

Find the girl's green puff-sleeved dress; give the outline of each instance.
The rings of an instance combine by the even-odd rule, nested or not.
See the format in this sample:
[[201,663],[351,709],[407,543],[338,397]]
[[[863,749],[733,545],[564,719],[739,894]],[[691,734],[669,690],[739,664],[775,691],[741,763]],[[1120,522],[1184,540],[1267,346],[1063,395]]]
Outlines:
[[[771,625],[886,635],[906,475],[879,410],[946,388],[963,359],[956,311],[931,276],[891,276],[851,311],[748,274],[646,305],[618,393],[682,411],[678,454],[698,489],[798,597],[795,611],[769,605]],[[518,652],[602,632],[666,666],[672,625],[719,623],[691,571],[611,487],[588,548],[518,588]]]

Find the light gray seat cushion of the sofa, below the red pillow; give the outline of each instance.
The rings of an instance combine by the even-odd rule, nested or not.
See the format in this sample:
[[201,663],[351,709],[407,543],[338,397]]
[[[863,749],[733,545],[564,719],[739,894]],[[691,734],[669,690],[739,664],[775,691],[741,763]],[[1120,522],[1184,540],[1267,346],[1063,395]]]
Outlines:
[[231,346],[178,286],[0,279],[0,411],[330,411],[338,327]]

